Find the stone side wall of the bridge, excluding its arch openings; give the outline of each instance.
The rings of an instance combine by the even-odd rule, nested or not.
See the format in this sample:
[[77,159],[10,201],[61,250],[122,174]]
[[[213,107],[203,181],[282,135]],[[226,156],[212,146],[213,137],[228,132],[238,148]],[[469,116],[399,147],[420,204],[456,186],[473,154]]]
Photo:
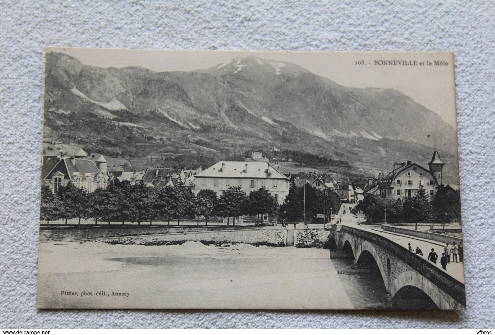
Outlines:
[[465,308],[465,285],[426,259],[371,231],[345,225],[333,225],[332,230],[337,248],[348,241],[356,261],[362,251],[373,255],[391,296],[410,285],[427,293],[440,308]]

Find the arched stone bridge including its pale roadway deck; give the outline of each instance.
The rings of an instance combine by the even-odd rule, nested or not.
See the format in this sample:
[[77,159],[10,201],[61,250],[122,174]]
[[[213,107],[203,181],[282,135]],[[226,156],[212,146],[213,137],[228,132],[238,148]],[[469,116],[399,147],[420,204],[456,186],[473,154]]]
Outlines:
[[[346,214],[343,214],[344,206]],[[387,232],[381,226],[360,224],[358,217],[348,210],[349,206],[353,205],[344,204],[339,211],[334,221],[339,224],[331,225],[336,247],[351,249],[358,267],[364,266],[366,258],[372,256],[379,267],[392,305],[402,303],[402,306],[410,306],[404,299],[414,294],[417,301],[429,296],[441,309],[465,308],[464,264],[451,260],[447,270],[442,269],[440,256],[444,243]],[[408,243],[411,243],[413,249],[419,247],[424,255],[408,251]],[[427,260],[432,248],[439,255],[436,264]],[[422,293],[418,293],[417,289]],[[411,293],[413,291],[415,293]]]

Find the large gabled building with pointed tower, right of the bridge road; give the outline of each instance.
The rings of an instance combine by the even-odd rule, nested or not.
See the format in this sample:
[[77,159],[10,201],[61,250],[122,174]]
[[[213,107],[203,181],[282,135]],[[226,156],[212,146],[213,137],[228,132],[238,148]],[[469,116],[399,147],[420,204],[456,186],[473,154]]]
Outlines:
[[369,179],[365,192],[396,200],[410,199],[422,188],[431,201],[438,186],[443,183],[444,165],[437,150],[434,151],[428,168],[411,161],[394,163],[393,170],[389,173],[380,173],[377,179]]

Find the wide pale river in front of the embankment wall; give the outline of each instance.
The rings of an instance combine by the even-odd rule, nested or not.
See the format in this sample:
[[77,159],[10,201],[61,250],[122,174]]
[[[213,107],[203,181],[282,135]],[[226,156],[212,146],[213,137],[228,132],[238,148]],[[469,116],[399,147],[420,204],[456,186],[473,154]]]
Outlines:
[[57,242],[39,262],[38,308],[383,308],[376,273],[322,249]]

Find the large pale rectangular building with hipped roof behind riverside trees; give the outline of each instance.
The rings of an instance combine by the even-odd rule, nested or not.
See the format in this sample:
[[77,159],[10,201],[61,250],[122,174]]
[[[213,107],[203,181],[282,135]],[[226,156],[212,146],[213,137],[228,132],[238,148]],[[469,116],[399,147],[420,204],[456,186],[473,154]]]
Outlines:
[[265,187],[281,205],[289,194],[289,178],[267,162],[218,162],[195,176],[195,194],[210,189],[221,195],[231,186],[249,192]]

